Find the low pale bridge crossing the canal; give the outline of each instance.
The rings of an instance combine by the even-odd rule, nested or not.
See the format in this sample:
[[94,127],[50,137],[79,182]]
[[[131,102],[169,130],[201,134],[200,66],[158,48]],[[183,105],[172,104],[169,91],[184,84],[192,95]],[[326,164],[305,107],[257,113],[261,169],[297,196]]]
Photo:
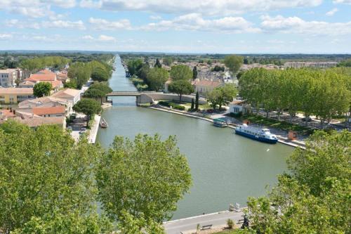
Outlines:
[[[113,91],[107,93],[107,97],[136,97],[137,104],[154,103],[155,100],[179,100],[179,96],[174,93],[161,92],[138,92],[138,91]],[[182,100],[188,103],[192,102],[194,95],[183,95]],[[206,99],[199,98],[199,104],[206,104]]]

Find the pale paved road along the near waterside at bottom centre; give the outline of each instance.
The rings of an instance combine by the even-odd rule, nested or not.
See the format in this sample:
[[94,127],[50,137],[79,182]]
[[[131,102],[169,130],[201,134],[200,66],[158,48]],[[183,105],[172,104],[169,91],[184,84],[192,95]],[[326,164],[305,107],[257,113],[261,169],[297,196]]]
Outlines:
[[213,214],[204,214],[201,216],[194,216],[186,219],[178,219],[175,221],[168,221],[164,223],[164,228],[167,234],[180,234],[186,230],[195,230],[197,223],[201,226],[210,225],[222,226],[226,225],[227,219],[232,219],[237,223],[239,219],[243,218],[243,212],[218,212]]

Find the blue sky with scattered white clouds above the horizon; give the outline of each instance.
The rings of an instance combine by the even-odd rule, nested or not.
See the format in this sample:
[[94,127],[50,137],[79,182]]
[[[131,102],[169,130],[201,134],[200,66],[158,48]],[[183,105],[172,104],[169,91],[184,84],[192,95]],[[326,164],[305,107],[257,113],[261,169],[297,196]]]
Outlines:
[[0,0],[0,50],[351,53],[351,0]]

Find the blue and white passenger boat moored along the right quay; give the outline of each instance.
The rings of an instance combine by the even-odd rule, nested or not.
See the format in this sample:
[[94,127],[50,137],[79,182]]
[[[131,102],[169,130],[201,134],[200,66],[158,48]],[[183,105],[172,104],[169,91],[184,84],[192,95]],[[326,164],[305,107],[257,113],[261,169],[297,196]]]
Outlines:
[[235,129],[235,134],[246,136],[256,141],[275,144],[278,141],[277,136],[270,133],[270,129],[260,129],[247,124],[241,124]]

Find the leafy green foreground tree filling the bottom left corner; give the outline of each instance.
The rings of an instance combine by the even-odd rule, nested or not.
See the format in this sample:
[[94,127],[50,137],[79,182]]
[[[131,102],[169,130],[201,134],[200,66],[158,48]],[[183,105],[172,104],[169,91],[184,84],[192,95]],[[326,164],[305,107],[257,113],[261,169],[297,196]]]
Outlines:
[[76,143],[55,125],[34,130],[11,121],[0,125],[0,141],[1,231],[26,228],[31,221],[40,224],[34,217],[74,214],[85,219],[93,212],[96,146],[84,138]]

